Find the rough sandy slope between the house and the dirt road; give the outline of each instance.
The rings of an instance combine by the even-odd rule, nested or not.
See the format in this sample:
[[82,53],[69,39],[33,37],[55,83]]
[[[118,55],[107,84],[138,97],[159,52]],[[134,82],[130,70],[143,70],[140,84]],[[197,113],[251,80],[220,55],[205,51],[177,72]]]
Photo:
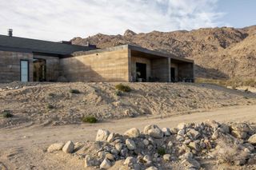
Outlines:
[[[20,125],[81,124],[81,117],[99,120],[191,113],[234,105],[256,105],[256,94],[218,85],[192,83],[124,83],[130,93],[116,95],[117,83],[32,83],[1,85],[0,128]],[[5,89],[9,86],[9,89]],[[70,93],[78,89],[79,94]],[[49,105],[53,107],[49,108]]]

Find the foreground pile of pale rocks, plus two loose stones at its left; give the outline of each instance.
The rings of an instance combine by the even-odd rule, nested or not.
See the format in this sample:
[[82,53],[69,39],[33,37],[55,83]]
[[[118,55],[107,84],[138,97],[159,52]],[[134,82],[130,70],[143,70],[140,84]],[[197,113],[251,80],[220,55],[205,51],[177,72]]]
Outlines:
[[[99,149],[84,152],[82,156],[85,158],[85,167],[102,169],[110,168],[120,161],[122,166],[131,169],[174,168],[175,163],[179,167],[199,169],[201,160],[217,159],[214,152],[219,149],[218,142],[225,139],[246,152],[246,158],[230,164],[255,164],[254,133],[255,129],[245,123],[226,125],[216,121],[182,123],[177,128],[162,129],[157,125],[147,125],[143,132],[138,128],[130,128],[123,135],[99,129],[95,142]],[[48,152],[61,149],[66,153],[74,152],[74,144],[71,141],[65,145],[52,144]]]

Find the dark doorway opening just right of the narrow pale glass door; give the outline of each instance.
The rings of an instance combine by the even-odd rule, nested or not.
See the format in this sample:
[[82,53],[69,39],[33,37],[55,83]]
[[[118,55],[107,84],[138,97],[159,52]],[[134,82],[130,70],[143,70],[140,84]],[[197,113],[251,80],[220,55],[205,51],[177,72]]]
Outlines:
[[33,60],[33,81],[46,81],[46,60]]

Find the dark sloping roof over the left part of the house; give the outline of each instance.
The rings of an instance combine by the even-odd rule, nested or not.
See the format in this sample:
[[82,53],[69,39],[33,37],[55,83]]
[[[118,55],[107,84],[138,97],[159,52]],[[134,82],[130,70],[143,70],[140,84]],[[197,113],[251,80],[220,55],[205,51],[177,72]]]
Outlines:
[[0,50],[25,53],[53,53],[68,55],[75,51],[86,51],[97,49],[90,46],[71,45],[62,42],[48,42],[30,38],[10,37],[0,35]]

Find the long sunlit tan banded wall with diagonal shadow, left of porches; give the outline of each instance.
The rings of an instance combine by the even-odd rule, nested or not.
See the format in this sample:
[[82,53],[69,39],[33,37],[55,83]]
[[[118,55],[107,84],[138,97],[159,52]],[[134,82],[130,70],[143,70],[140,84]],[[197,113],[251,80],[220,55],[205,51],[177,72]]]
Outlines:
[[129,51],[120,49],[60,59],[68,81],[129,81]]

